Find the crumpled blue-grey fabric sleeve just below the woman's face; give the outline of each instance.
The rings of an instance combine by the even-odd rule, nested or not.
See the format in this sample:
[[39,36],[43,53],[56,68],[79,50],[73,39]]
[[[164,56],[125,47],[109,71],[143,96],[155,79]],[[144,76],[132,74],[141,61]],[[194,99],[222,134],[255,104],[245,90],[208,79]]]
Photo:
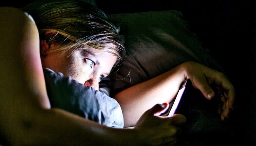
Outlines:
[[44,76],[51,107],[108,127],[123,128],[122,110],[115,99],[50,69],[44,69]]

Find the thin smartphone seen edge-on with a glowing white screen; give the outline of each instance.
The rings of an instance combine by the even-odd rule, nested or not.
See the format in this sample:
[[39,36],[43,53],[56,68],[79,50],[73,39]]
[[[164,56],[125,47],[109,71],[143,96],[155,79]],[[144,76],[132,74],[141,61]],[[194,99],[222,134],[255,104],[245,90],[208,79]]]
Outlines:
[[179,103],[181,102],[181,99],[182,99],[182,95],[186,89],[186,85],[188,84],[189,82],[189,79],[186,79],[181,85],[180,85],[180,88],[179,88],[179,91],[176,95],[176,98],[173,102],[171,102],[169,104],[170,108],[169,110],[167,111],[167,113],[164,113],[162,116],[168,116],[168,117],[171,117],[172,115],[175,114],[178,106],[179,106]]

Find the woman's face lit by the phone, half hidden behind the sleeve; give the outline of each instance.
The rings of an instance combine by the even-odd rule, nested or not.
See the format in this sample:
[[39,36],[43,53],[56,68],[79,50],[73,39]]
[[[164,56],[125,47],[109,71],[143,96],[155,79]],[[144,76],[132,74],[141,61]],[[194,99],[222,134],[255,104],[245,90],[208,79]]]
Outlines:
[[[56,46],[51,45],[51,49],[54,48]],[[73,53],[48,53],[41,60],[43,68],[61,72],[64,76],[70,76],[79,83],[98,90],[100,79],[109,75],[117,57],[86,45]]]

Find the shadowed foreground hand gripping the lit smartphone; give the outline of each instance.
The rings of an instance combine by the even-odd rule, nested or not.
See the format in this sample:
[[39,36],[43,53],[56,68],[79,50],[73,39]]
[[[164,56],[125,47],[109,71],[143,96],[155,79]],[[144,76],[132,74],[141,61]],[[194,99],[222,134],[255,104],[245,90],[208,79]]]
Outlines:
[[181,114],[175,114],[173,117],[157,116],[168,107],[168,103],[156,104],[140,117],[134,129],[140,133],[139,139],[142,142],[147,145],[176,144],[176,134],[179,133],[176,125],[185,123],[186,118]]

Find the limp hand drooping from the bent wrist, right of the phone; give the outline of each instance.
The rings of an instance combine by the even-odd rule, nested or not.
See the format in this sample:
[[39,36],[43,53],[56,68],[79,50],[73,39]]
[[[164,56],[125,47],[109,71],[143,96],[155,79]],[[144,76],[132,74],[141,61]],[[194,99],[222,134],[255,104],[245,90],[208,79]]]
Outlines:
[[216,70],[210,69],[196,62],[181,64],[184,76],[190,79],[192,85],[199,89],[204,97],[212,99],[220,96],[222,104],[219,107],[221,119],[226,120],[234,107],[235,89],[227,77]]

